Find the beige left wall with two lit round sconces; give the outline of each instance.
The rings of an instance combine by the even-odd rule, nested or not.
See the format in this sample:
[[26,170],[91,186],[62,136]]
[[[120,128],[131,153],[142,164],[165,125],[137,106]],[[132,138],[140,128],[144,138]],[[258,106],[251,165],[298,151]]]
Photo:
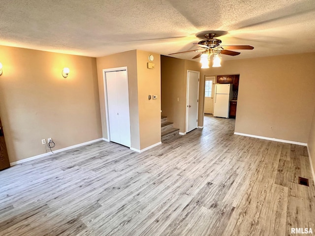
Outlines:
[[[0,116],[10,162],[101,138],[96,59],[0,46]],[[68,78],[61,75],[69,67]]]

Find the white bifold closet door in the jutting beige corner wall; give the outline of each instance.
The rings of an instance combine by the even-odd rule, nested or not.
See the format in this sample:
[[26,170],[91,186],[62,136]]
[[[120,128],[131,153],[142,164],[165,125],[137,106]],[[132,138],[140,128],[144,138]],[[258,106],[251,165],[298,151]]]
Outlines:
[[131,146],[126,70],[105,72],[110,141]]

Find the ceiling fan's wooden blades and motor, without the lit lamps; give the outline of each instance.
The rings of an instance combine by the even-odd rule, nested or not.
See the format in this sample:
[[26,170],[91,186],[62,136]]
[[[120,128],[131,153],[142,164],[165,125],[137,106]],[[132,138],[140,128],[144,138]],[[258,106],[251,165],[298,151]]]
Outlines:
[[[179,53],[188,53],[188,52],[198,52],[196,56],[194,56],[192,59],[200,58],[203,54],[207,54],[208,56],[215,54],[215,55],[229,55],[229,56],[237,56],[240,53],[239,52],[234,52],[230,51],[227,49],[232,49],[232,50],[252,50],[254,47],[250,45],[226,45],[226,46],[221,46],[221,40],[214,38],[217,34],[216,33],[206,33],[204,35],[205,39],[199,41],[198,43],[193,43],[202,49],[199,50],[189,50],[185,52],[179,52]],[[179,54],[179,53],[171,53],[168,55],[174,55],[174,54]]]

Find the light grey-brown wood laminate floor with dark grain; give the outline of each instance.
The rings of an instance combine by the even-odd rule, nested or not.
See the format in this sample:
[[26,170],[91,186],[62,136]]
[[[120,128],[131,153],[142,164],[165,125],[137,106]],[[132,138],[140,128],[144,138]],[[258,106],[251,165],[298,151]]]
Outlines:
[[[0,172],[1,236],[284,236],[315,231],[306,147],[234,135],[234,119],[143,153],[115,143]],[[298,184],[309,178],[310,186]]]

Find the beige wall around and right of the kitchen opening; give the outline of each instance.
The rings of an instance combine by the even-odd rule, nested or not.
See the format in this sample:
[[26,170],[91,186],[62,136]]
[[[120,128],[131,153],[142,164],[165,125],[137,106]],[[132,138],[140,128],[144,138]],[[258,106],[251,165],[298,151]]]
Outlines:
[[[235,132],[307,143],[315,101],[315,53],[222,59],[221,64],[203,69],[202,83],[205,75],[240,74]],[[200,121],[202,117],[199,114]]]

